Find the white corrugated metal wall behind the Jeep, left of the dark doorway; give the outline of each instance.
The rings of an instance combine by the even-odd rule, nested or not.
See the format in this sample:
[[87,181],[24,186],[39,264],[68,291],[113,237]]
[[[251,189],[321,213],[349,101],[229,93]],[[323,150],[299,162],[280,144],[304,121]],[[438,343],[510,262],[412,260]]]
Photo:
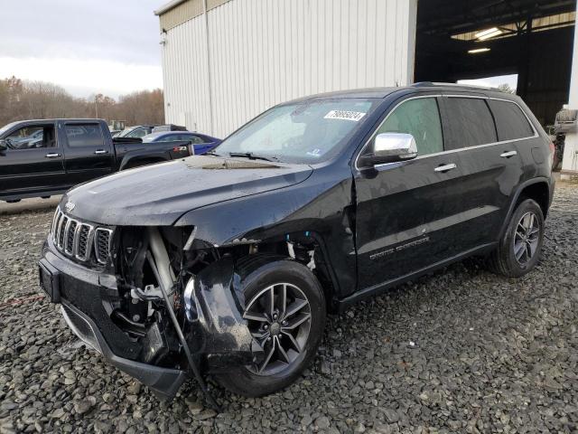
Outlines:
[[288,99],[407,84],[413,81],[415,15],[416,0],[219,5],[207,15],[209,55],[204,15],[167,32],[166,120],[225,137]]

